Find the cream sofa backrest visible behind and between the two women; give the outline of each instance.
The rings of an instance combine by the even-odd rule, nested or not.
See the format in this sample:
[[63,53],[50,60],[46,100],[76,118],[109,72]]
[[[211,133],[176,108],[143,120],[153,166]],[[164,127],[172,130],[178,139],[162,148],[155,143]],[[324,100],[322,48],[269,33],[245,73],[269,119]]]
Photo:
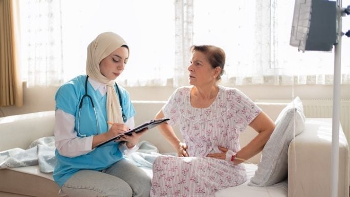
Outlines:
[[[154,119],[157,112],[165,104],[165,101],[133,101],[133,104],[136,110],[135,125],[140,125],[145,121]],[[257,105],[275,121],[279,112],[286,107],[287,104],[257,103]],[[35,139],[44,136],[53,136],[54,124],[54,111],[35,112],[0,118],[0,151],[13,149],[15,147],[27,149],[29,144]],[[175,127],[174,130],[182,140],[179,128]],[[257,133],[248,127],[247,130],[240,135],[241,147],[249,143],[256,135]],[[155,144],[160,153],[174,152],[172,146],[161,135],[158,128],[147,131],[140,140],[146,140]],[[260,156],[261,155],[258,154],[249,161],[258,163]]]

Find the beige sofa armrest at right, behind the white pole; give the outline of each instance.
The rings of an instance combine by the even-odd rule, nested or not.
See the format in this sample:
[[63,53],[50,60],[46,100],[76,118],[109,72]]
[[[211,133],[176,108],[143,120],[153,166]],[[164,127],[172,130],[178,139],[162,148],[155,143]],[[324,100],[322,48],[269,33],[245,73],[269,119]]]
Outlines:
[[[331,196],[332,118],[307,118],[288,151],[288,196]],[[349,196],[349,148],[339,128],[338,196]]]

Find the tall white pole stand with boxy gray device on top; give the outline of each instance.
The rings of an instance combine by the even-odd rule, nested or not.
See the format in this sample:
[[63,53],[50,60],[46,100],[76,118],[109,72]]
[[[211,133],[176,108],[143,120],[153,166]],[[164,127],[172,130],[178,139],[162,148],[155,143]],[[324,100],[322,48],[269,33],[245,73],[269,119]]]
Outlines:
[[339,182],[339,126],[342,16],[350,13],[350,6],[342,7],[337,0],[295,0],[290,45],[299,51],[332,51],[334,45],[333,117],[332,117],[332,196],[338,196]]

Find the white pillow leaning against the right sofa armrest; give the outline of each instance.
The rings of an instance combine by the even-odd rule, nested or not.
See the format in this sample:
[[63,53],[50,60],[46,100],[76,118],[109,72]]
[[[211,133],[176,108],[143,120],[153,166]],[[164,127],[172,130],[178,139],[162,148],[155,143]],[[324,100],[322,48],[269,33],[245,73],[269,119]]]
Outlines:
[[270,186],[287,177],[289,143],[305,126],[305,115],[299,97],[279,113],[275,124],[275,130],[262,150],[258,169],[248,183],[250,186]]

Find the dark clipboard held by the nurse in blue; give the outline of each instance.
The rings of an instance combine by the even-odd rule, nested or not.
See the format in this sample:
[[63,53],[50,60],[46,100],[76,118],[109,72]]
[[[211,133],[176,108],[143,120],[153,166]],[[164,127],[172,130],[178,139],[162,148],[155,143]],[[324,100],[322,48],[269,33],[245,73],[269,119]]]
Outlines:
[[100,147],[102,145],[113,145],[113,144],[116,144],[116,142],[114,142],[114,140],[118,140],[120,139],[121,137],[123,137],[123,135],[131,135],[133,132],[140,132],[142,131],[143,129],[147,128],[148,130],[154,128],[154,127],[157,127],[159,124],[162,124],[163,122],[166,122],[168,121],[169,118],[162,118],[162,119],[153,119],[153,120],[150,120],[150,121],[147,121],[145,122],[144,124],[142,125],[139,125],[137,127],[135,127],[134,129],[132,130],[129,130],[125,133],[122,133],[122,134],[119,134],[111,139],[108,139],[100,144],[98,144],[96,147]]

